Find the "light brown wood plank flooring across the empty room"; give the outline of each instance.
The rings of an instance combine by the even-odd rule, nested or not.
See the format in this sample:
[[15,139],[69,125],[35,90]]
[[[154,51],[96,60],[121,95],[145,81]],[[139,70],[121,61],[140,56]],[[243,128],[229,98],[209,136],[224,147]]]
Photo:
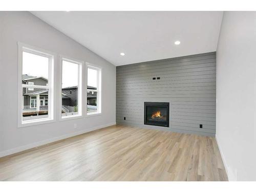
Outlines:
[[114,125],[0,158],[1,181],[227,181],[214,137]]

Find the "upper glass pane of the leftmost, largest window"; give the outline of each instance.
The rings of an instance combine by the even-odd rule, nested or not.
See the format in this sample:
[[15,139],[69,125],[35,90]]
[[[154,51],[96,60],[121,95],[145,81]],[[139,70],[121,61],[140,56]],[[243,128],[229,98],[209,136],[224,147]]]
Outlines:
[[[47,86],[49,58],[23,51],[22,54],[23,84]],[[33,88],[27,88],[33,91]]]

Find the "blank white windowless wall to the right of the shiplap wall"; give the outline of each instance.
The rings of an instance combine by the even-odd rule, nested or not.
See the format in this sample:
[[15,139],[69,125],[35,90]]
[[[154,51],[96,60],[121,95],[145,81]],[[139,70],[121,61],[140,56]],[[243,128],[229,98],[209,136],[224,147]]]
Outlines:
[[229,180],[256,180],[256,12],[225,12],[217,48],[216,137]]

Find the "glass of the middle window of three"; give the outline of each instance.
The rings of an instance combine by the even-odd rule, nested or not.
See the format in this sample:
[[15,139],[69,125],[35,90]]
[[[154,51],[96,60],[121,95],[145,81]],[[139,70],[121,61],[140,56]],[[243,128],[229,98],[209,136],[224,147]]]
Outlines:
[[62,116],[78,114],[78,64],[62,60]]

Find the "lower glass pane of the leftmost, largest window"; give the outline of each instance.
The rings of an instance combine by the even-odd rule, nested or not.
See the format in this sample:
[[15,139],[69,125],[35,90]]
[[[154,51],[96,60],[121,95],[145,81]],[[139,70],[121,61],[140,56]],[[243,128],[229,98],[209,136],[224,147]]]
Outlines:
[[[48,89],[34,89],[34,92],[23,92],[23,120],[39,119],[48,117],[48,105],[45,97],[48,96]],[[44,99],[40,99],[44,98]],[[39,103],[38,103],[39,100]],[[48,103],[48,100],[47,100]],[[38,105],[37,105],[38,104]]]

